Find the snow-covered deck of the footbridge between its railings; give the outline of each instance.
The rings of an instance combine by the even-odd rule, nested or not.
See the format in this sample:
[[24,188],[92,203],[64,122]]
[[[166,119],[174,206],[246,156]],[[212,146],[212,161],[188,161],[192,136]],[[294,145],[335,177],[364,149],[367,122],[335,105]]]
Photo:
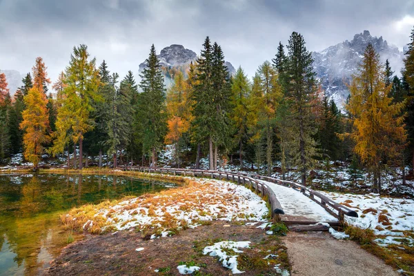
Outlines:
[[274,192],[277,200],[282,205],[285,215],[291,217],[301,217],[297,220],[308,221],[337,221],[333,215],[326,212],[322,206],[319,206],[315,201],[306,197],[293,188],[273,184],[268,181],[264,181]]

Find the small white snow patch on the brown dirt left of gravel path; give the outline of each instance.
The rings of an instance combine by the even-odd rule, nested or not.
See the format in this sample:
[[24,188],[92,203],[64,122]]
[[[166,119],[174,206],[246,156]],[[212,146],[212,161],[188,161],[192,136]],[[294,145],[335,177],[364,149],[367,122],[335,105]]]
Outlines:
[[244,271],[237,269],[238,255],[228,254],[230,250],[232,250],[234,253],[243,253],[243,251],[239,250],[238,248],[250,248],[249,244],[250,242],[217,242],[213,246],[207,246],[204,248],[203,254],[219,257],[219,262],[221,262],[225,268],[229,268],[233,274],[244,273]]

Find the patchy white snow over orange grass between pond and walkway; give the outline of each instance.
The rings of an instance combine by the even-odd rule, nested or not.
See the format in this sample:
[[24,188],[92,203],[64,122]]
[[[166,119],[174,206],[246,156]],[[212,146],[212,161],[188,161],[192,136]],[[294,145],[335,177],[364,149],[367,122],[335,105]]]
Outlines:
[[[105,227],[115,230],[156,228],[155,238],[166,236],[175,228],[197,227],[202,221],[264,221],[268,214],[266,202],[244,186],[212,179],[186,179],[186,186],[121,201],[96,210],[95,217],[97,221],[105,219]],[[82,219],[83,213],[76,211],[72,215],[73,219]],[[83,228],[90,230],[92,225],[93,221],[88,220]]]

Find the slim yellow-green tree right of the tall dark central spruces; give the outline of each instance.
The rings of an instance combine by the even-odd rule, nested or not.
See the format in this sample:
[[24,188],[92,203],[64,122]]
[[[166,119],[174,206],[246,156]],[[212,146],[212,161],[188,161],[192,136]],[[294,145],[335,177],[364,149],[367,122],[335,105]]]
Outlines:
[[240,170],[243,170],[244,145],[248,140],[248,98],[250,97],[250,83],[242,67],[237,69],[232,83],[231,119],[236,130],[233,136],[234,144],[239,147]]

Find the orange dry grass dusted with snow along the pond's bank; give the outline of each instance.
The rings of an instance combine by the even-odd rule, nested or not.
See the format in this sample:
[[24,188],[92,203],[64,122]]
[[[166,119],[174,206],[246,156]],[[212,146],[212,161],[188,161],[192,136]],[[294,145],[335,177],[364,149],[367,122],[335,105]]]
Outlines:
[[[139,177],[152,176],[157,175],[139,173]],[[68,229],[92,234],[101,233],[101,229],[111,229],[110,226],[115,224],[117,228],[123,228],[135,221],[131,225],[147,237],[150,234],[160,235],[163,231],[177,233],[180,229],[188,228],[188,219],[195,224],[204,219],[224,217],[226,208],[236,207],[237,202],[241,200],[231,189],[222,193],[221,187],[211,181],[169,175],[161,177],[164,181],[180,181],[181,185],[128,200],[105,201],[97,205],[74,208],[68,215],[63,215],[61,221]],[[212,205],[216,206],[215,210],[205,208]],[[128,213],[127,220],[121,218],[121,214],[125,212]],[[183,212],[186,212],[187,221],[179,217]],[[239,210],[233,219],[249,219],[251,215],[253,214]],[[126,228],[130,227],[128,225]]]

